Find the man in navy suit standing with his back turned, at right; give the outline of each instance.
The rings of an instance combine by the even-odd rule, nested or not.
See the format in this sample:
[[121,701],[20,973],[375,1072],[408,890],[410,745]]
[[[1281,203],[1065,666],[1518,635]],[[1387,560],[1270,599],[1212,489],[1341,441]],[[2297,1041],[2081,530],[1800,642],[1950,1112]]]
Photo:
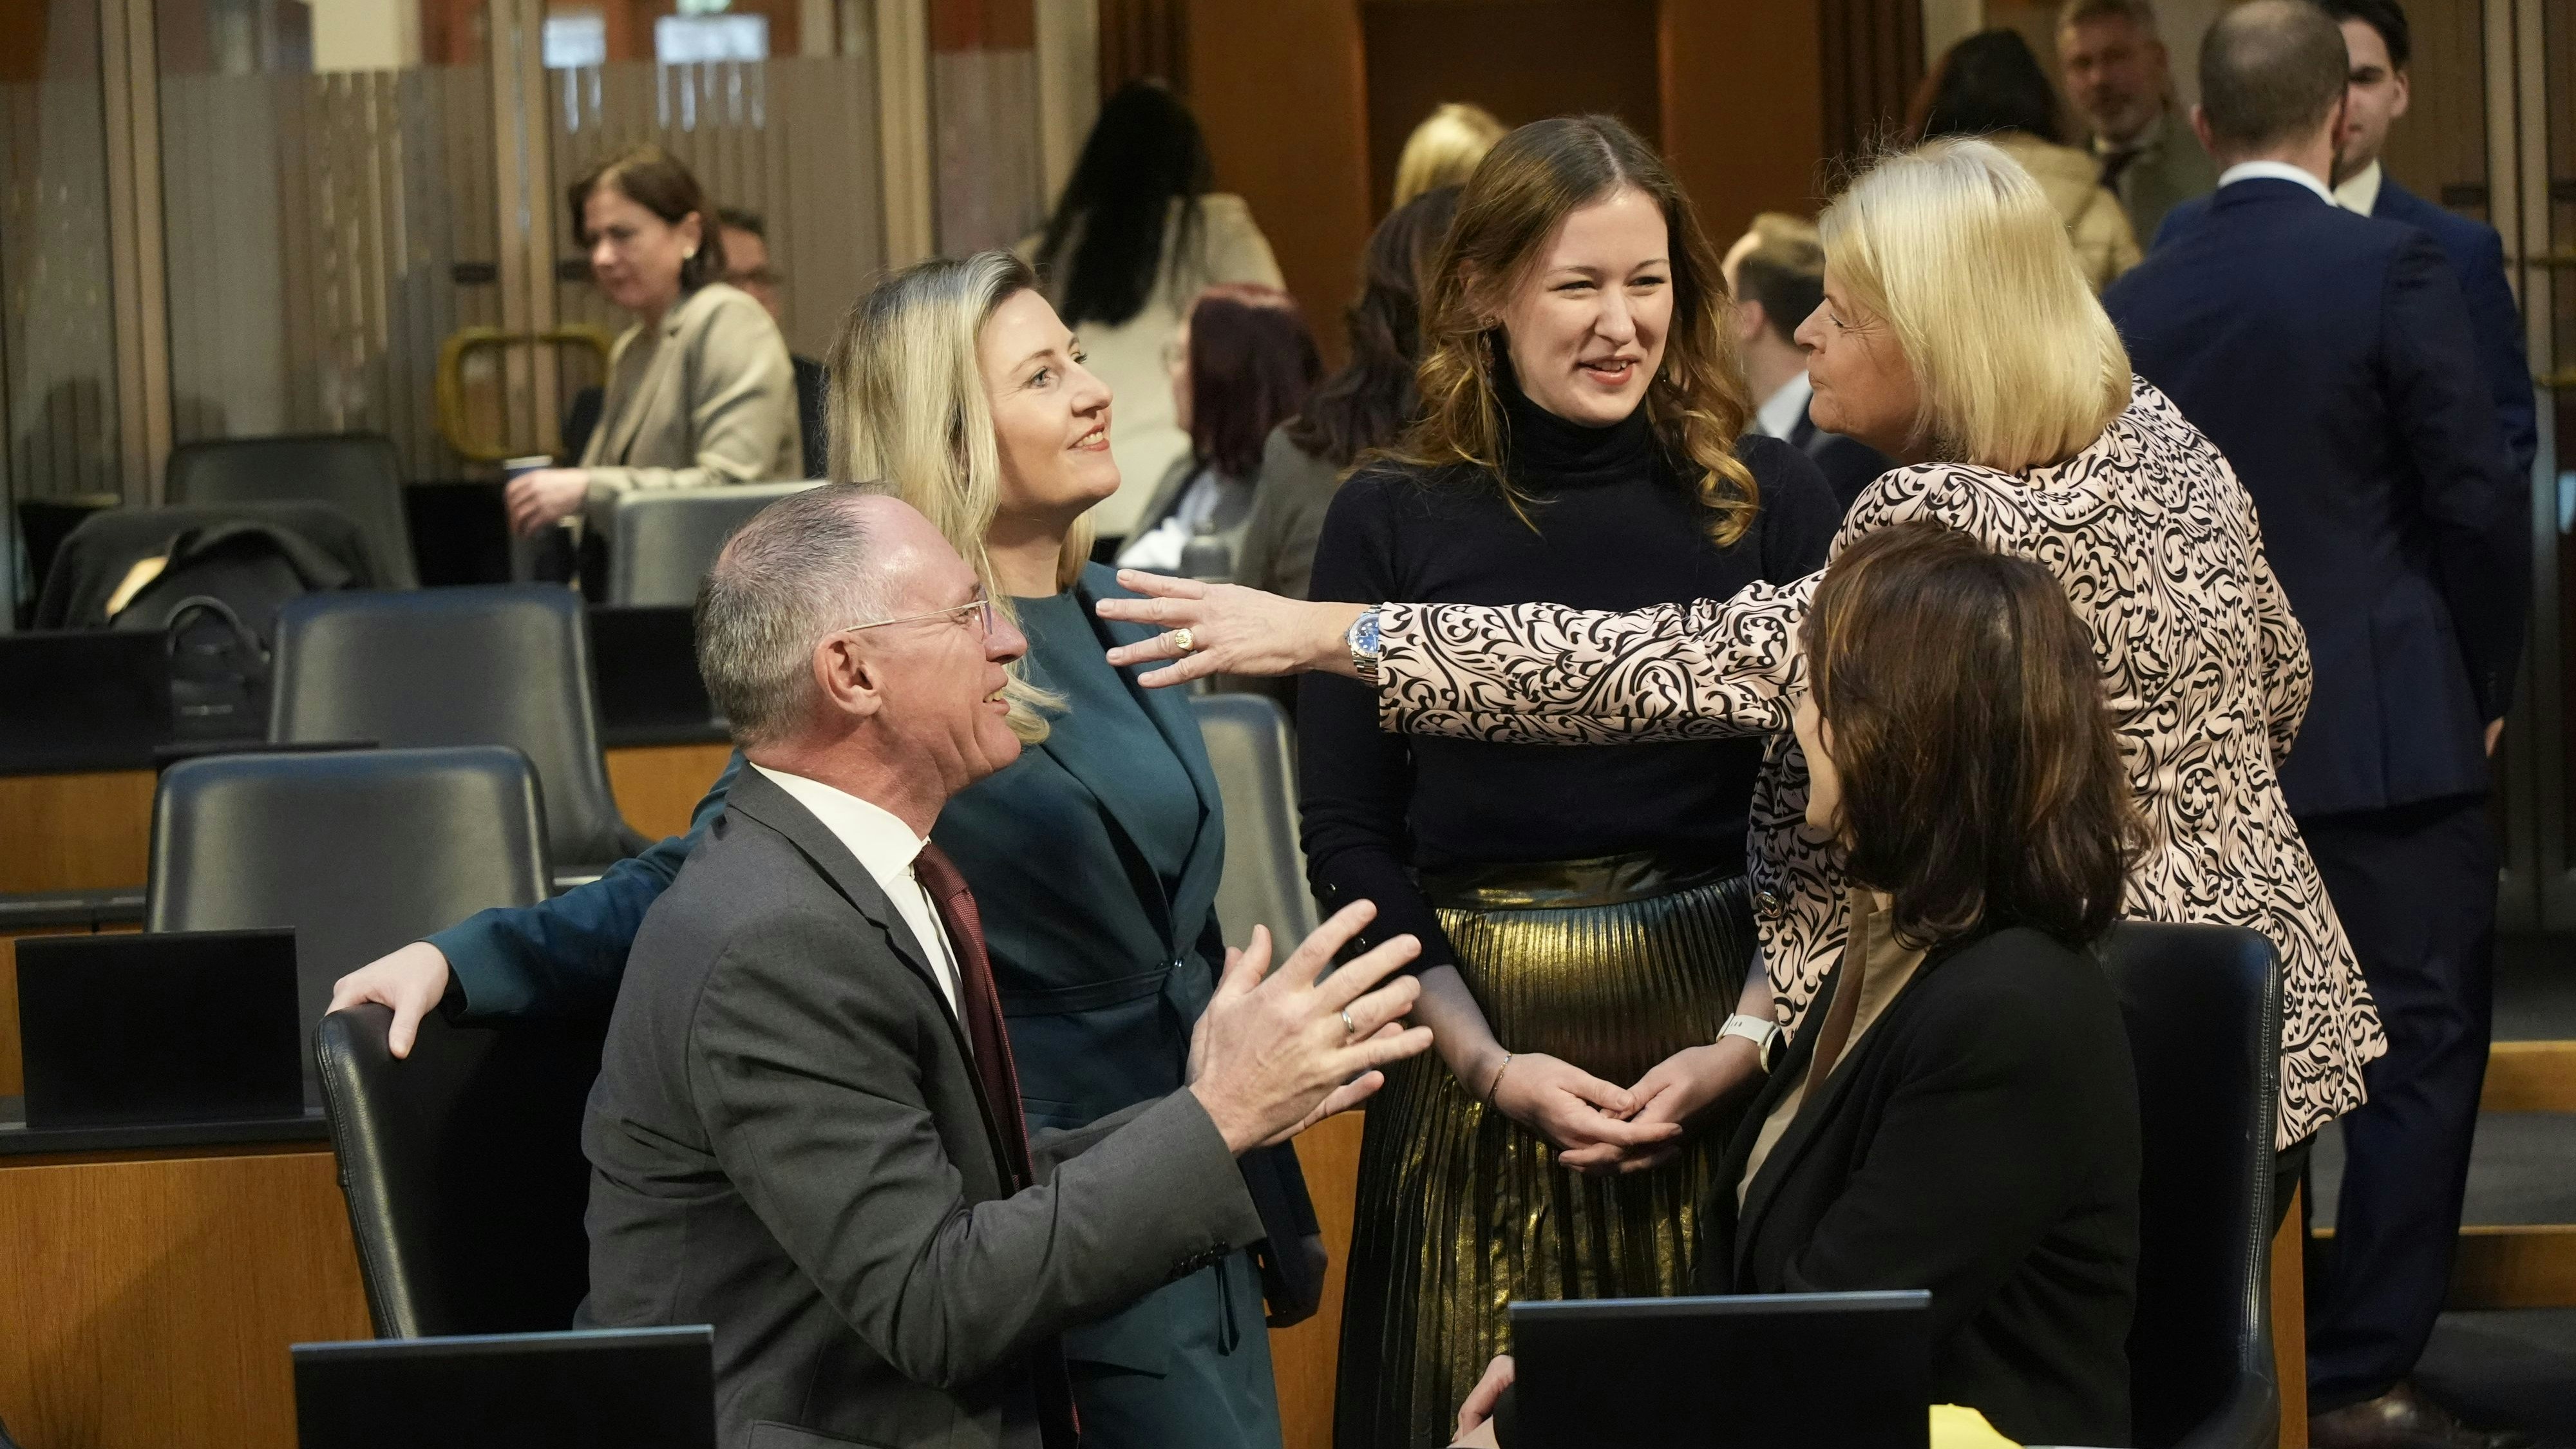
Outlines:
[[[2282,794],[2388,1031],[2370,1101],[2342,1116],[2336,1253],[2308,1305],[2311,1444],[2496,1446],[2406,1374],[2450,1284],[2486,1078],[2486,761],[2530,603],[2530,477],[2506,462],[2442,248],[2326,191],[2344,83],[2344,34],[2308,0],[2226,10],[2192,113],[2218,193],[2177,211],[2102,304],[2262,513],[2316,670]],[[2303,1160],[2306,1142],[2282,1165]]]

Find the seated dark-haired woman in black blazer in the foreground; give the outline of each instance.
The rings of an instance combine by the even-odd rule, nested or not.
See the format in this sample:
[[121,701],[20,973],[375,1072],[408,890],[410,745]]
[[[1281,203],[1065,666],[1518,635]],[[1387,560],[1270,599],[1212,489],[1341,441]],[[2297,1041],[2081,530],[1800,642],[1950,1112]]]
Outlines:
[[[2128,1444],[2138,1085],[2087,949],[2143,835],[2092,639],[2040,565],[1896,523],[1824,572],[1803,652],[1852,946],[1726,1150],[1700,1289],[1932,1289],[1937,1403]],[[1512,1444],[1510,1379],[1468,1444]]]

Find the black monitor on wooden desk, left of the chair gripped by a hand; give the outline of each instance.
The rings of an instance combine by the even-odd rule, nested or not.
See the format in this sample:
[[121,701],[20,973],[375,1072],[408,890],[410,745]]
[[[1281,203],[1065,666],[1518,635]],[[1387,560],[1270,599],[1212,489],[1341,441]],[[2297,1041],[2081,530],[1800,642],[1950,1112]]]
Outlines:
[[304,1116],[294,931],[18,941],[28,1127]]

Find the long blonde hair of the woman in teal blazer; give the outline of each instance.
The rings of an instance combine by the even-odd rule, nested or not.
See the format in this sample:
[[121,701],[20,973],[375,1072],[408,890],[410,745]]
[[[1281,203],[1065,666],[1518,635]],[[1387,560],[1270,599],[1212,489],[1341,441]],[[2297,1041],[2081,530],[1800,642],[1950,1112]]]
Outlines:
[[[907,266],[850,307],[827,364],[832,482],[868,482],[917,508],[974,565],[984,596],[1012,621],[1010,590],[994,578],[984,547],[1002,511],[1002,449],[979,343],[994,309],[1036,289],[1038,276],[1010,253]],[[1064,539],[1056,588],[1072,588],[1090,554],[1092,526],[1084,518]],[[1018,663],[1002,699],[1010,704],[1010,732],[1030,745],[1046,740],[1046,712],[1064,706]]]

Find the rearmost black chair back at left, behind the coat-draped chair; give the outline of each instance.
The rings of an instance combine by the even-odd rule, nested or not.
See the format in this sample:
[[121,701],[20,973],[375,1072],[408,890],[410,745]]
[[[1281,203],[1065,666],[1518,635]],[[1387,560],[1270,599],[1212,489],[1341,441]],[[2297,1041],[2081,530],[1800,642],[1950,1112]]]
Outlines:
[[180,443],[162,477],[170,503],[330,503],[366,531],[381,588],[420,588],[392,438],[291,433]]

